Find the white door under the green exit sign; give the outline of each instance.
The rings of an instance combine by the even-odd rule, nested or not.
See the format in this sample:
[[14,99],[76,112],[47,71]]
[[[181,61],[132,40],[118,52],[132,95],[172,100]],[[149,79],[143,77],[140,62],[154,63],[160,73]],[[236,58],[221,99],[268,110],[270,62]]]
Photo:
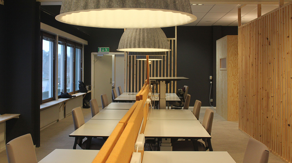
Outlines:
[[94,98],[101,107],[100,95],[106,94],[109,103],[112,102],[112,56],[94,55]]

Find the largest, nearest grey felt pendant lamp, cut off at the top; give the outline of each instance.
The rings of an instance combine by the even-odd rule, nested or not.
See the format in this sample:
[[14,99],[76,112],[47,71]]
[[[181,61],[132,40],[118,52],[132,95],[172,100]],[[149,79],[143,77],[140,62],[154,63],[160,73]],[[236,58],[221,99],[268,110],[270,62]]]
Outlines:
[[63,0],[56,20],[100,28],[159,28],[188,24],[190,0]]

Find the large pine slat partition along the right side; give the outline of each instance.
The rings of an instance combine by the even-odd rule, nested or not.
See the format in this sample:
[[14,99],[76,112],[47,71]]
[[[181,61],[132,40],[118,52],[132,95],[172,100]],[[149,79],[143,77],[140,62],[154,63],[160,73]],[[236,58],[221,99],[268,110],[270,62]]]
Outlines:
[[239,27],[239,128],[292,162],[292,4]]

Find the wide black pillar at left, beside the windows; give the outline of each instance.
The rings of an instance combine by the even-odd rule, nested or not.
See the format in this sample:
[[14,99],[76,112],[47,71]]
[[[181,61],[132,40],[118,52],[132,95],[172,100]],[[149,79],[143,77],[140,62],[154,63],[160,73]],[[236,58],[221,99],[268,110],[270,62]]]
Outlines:
[[[36,53],[39,20],[36,1],[5,1],[6,111],[21,114],[6,123],[6,142],[32,134],[39,146],[39,67]],[[1,33],[2,34],[2,33]],[[1,35],[2,37],[2,35]]]

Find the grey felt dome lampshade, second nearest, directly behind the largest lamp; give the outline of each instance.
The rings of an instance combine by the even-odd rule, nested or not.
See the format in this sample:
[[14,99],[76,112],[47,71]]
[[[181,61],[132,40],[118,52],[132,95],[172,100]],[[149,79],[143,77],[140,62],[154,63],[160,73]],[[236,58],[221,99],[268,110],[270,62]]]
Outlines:
[[118,51],[167,52],[168,40],[161,28],[126,29],[120,39]]

